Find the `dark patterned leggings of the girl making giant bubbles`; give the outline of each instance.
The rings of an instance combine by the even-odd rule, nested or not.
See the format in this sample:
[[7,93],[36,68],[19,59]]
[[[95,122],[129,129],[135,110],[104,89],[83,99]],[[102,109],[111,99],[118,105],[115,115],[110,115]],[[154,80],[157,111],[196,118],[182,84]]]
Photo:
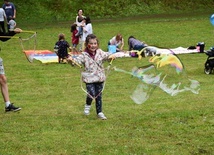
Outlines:
[[[95,98],[96,102],[96,112],[97,114],[102,112],[102,90],[103,90],[103,82],[97,83],[86,83],[86,89],[88,94]],[[86,104],[91,105],[93,98],[87,95]]]

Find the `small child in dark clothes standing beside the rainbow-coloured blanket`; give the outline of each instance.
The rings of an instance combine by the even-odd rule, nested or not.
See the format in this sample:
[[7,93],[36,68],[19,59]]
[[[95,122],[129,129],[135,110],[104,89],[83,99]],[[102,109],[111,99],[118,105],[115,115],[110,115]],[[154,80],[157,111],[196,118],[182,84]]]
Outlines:
[[71,51],[69,43],[65,40],[65,35],[63,33],[59,34],[59,40],[55,43],[54,51],[58,56],[58,62],[64,62],[68,57],[68,48]]

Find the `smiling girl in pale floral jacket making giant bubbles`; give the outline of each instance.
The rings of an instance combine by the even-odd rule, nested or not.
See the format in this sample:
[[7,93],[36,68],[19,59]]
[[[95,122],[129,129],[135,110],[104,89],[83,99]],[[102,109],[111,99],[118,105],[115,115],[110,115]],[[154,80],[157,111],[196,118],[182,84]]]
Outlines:
[[89,34],[86,37],[85,46],[85,50],[78,57],[69,57],[68,61],[75,61],[84,66],[82,80],[86,84],[88,92],[84,114],[90,114],[91,103],[95,99],[97,117],[106,120],[107,118],[102,112],[102,90],[104,81],[106,80],[103,62],[108,59],[114,59],[115,56],[99,49],[98,39],[93,34]]

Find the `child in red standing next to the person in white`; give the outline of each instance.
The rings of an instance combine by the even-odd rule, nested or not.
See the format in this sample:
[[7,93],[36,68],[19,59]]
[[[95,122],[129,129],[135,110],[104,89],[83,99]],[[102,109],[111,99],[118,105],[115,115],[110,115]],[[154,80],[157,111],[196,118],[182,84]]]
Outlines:
[[79,37],[77,36],[78,30],[77,30],[77,24],[71,25],[71,42],[72,42],[72,52],[78,52],[76,47],[79,44]]

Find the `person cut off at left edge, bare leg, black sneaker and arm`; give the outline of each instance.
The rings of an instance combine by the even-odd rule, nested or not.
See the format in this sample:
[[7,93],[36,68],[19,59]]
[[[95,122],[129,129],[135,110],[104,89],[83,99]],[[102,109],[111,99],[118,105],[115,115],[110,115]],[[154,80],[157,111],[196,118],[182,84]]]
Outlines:
[[[7,34],[2,34],[0,33],[0,40],[1,41],[7,41],[10,39],[9,36],[13,36],[16,33],[20,33],[22,30],[21,29],[15,29],[14,31],[10,31]],[[1,38],[1,36],[8,36],[8,38]],[[5,76],[5,70],[4,70],[4,66],[3,66],[3,59],[0,58],[0,87],[1,87],[1,92],[2,92],[2,96],[5,102],[5,112],[9,112],[9,111],[19,111],[21,110],[21,108],[19,107],[15,107],[13,105],[13,103],[10,102],[10,97],[9,97],[9,92],[8,92],[8,85],[7,85],[7,78]]]

